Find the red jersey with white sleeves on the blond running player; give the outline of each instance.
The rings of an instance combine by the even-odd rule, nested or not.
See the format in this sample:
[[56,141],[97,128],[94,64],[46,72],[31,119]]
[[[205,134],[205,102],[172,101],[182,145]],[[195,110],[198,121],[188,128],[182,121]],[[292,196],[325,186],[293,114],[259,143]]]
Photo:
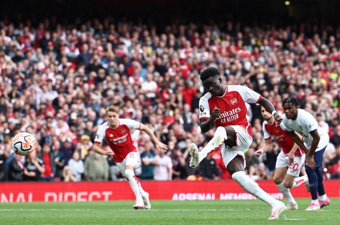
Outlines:
[[137,151],[130,129],[138,129],[139,125],[135,120],[118,119],[118,126],[111,128],[108,122],[104,122],[99,127],[94,142],[102,143],[105,139],[115,153],[113,159],[116,163],[121,163],[129,152]]

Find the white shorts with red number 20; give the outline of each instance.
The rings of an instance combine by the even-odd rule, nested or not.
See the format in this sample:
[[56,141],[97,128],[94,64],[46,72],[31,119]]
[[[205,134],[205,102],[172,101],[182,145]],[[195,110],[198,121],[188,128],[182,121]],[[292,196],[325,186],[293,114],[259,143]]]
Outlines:
[[306,154],[295,155],[292,165],[288,164],[288,156],[281,150],[276,158],[275,168],[288,167],[287,174],[293,177],[298,177],[300,175],[301,167],[304,165]]

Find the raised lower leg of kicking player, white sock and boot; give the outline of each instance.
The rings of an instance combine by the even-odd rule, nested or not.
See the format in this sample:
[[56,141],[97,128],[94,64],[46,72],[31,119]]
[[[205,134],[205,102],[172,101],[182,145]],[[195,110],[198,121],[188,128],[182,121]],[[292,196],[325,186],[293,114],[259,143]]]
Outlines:
[[190,167],[196,168],[201,161],[212,151],[220,150],[224,141],[228,139],[226,128],[218,127],[215,131],[214,137],[208,142],[208,144],[199,151],[196,144],[191,143],[189,147],[189,153],[191,155]]

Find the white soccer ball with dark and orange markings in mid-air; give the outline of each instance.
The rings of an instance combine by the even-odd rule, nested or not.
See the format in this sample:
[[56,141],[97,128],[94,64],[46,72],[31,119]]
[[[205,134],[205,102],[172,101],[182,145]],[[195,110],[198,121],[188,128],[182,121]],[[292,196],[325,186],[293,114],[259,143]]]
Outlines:
[[12,139],[12,149],[18,155],[29,155],[36,149],[36,141],[33,135],[20,132]]

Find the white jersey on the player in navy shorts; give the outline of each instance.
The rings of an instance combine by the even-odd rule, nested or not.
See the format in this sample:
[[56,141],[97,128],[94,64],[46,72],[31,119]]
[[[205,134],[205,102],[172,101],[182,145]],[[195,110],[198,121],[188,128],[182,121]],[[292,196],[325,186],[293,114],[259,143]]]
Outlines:
[[318,147],[315,151],[322,150],[329,143],[329,136],[327,132],[321,128],[315,118],[304,109],[298,109],[298,115],[296,120],[287,119],[286,115],[282,116],[283,123],[286,126],[287,131],[296,131],[303,135],[304,143],[307,149],[310,149],[313,137],[309,134],[311,131],[317,130],[320,136]]

